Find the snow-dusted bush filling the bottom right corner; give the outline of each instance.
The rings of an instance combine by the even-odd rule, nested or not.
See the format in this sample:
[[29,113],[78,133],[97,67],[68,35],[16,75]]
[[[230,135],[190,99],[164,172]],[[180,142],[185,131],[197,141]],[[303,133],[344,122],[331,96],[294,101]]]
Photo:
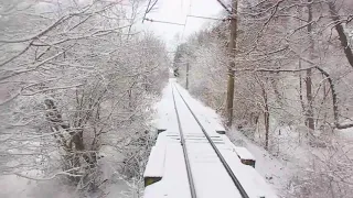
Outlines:
[[332,136],[325,148],[309,148],[306,163],[292,177],[288,197],[349,197],[352,191],[352,141]]

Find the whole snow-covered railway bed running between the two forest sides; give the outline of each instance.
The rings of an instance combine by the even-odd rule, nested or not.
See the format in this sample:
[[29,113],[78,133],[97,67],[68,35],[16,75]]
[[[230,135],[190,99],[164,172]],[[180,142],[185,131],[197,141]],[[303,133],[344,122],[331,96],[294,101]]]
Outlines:
[[[185,100],[185,102],[183,100]],[[204,128],[203,130],[186,103],[200,124]],[[174,105],[176,110],[173,109]],[[180,197],[181,195],[183,195],[183,197],[191,197],[190,191],[192,191],[193,186],[196,194],[196,196],[193,197],[199,198],[242,198],[244,195],[240,195],[238,188],[245,189],[245,194],[247,194],[245,197],[276,197],[265,179],[263,179],[253,167],[242,164],[235,153],[235,146],[229,139],[224,134],[217,133],[218,131],[225,131],[220,124],[218,117],[213,111],[210,111],[208,108],[205,108],[202,103],[194,100],[189,92],[175,84],[173,79],[170,80],[170,84],[164,89],[163,98],[161,102],[158,103],[157,110],[159,113],[157,127],[165,131],[159,135],[157,148],[153,150],[165,151],[165,153],[160,155],[160,157],[165,156],[163,162],[164,167],[163,172],[161,172],[161,168],[153,168],[154,165],[157,165],[156,167],[161,167],[160,165],[149,163],[146,170],[148,174],[146,175],[150,174],[154,177],[160,175],[162,182],[147,187],[146,197]],[[178,111],[179,114],[180,125],[178,124],[175,111]],[[183,135],[178,135],[180,132]],[[214,147],[207,141],[206,135],[208,140],[212,140],[214,143]],[[161,139],[163,139],[162,142],[167,140],[167,143],[162,143],[165,147],[158,148],[158,146],[161,147]],[[172,142],[170,141],[171,139],[173,140]],[[182,145],[186,147],[186,155],[182,155],[184,153],[181,153],[182,145],[180,141],[183,142],[183,140],[184,144]],[[215,150],[218,151],[218,154],[216,154]],[[152,151],[151,156],[156,155],[156,153],[158,152]],[[173,155],[173,157],[170,157],[170,155]],[[223,158],[223,162],[220,157]],[[158,157],[153,156],[153,158]],[[188,158],[189,162],[185,162],[185,158]],[[184,161],[184,164],[180,163],[181,160]],[[188,167],[188,164],[190,164],[191,167],[190,173],[183,169]],[[226,170],[226,166],[228,166],[228,170]],[[240,187],[235,185],[236,182],[232,179],[232,175],[233,178],[236,178],[235,180],[240,182]],[[185,180],[191,180],[190,187],[188,187],[189,185],[185,186]],[[176,184],[179,184],[180,187]],[[185,190],[188,191],[185,193]]]

